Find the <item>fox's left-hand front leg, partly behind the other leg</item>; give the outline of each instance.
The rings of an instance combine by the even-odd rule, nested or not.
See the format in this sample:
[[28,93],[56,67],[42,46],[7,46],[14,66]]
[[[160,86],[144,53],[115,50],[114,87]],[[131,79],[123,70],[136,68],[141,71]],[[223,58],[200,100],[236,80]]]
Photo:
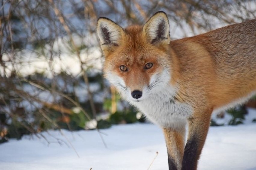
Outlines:
[[163,128],[168,153],[169,170],[180,170],[184,153],[185,125],[181,129]]

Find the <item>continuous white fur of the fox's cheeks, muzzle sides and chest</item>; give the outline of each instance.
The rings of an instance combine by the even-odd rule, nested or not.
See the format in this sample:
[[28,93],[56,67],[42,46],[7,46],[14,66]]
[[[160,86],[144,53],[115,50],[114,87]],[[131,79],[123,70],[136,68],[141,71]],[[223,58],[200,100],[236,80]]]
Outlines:
[[151,85],[144,86],[142,97],[139,99],[131,96],[131,91],[122,78],[111,73],[107,73],[106,77],[117,87],[122,98],[137,107],[151,122],[161,127],[184,128],[187,118],[193,113],[191,106],[175,101],[176,88],[169,84],[170,73],[167,69],[151,77]]

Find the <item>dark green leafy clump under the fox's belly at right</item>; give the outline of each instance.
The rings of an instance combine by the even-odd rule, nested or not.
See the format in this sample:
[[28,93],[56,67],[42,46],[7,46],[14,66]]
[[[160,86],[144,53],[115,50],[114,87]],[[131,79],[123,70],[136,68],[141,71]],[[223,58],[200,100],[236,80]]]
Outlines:
[[243,120],[245,119],[245,114],[247,114],[247,110],[244,106],[238,107],[238,108],[232,108],[227,110],[227,113],[229,113],[232,116],[232,119],[228,122],[229,125],[239,125],[243,124]]

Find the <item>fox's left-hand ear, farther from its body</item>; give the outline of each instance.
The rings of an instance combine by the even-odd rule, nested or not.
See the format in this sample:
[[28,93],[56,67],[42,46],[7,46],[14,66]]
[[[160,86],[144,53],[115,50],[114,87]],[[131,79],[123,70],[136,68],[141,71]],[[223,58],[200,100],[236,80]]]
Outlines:
[[97,33],[101,46],[117,46],[123,34],[123,29],[108,18],[101,17],[97,22]]

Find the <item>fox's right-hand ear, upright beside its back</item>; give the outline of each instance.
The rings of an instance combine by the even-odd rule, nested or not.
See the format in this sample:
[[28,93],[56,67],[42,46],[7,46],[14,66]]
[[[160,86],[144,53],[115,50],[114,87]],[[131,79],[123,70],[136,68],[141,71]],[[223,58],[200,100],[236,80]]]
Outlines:
[[169,21],[166,13],[159,11],[151,16],[143,26],[143,34],[152,44],[169,43]]

